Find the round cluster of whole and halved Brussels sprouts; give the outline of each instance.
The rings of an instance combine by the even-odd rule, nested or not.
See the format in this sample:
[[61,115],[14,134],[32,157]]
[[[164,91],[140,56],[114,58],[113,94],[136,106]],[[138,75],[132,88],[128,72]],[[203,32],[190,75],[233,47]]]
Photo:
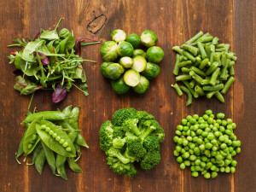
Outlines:
[[102,76],[112,79],[112,88],[119,95],[131,87],[138,94],[145,93],[149,80],[159,75],[158,64],[164,57],[163,49],[154,46],[157,35],[146,30],[141,37],[132,33],[126,38],[123,30],[116,29],[111,32],[111,37],[113,41],[107,41],[101,47]]

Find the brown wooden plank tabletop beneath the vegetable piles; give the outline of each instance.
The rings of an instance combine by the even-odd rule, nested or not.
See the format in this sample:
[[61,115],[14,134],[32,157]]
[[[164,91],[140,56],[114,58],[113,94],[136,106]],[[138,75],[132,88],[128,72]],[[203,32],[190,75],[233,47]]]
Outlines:
[[[0,191],[256,191],[255,0],[1,0],[0,10]],[[88,26],[99,15],[102,16]],[[98,38],[102,42],[110,40],[110,32],[116,28],[127,34],[151,29],[158,34],[158,45],[165,51],[160,76],[150,82],[143,96],[113,93],[99,70],[102,63],[100,44],[82,51],[84,58],[97,61],[96,64],[84,62],[88,97],[73,88],[64,102],[53,104],[50,92],[37,92],[32,108],[37,107],[39,111],[62,109],[70,104],[81,106],[80,129],[90,149],[83,149],[79,160],[84,173],[68,170],[67,181],[53,176],[49,166],[44,167],[40,176],[34,166],[18,165],[15,161],[15,150],[24,131],[20,122],[26,114],[30,96],[20,96],[13,89],[14,66],[8,65],[7,56],[15,49],[6,47],[12,38],[32,38],[40,28],[52,29],[61,17],[64,18],[61,27],[72,29],[76,38]],[[186,97],[178,97],[170,88],[174,82],[175,62],[172,46],[183,44],[200,30],[229,43],[231,50],[236,52],[236,82],[224,96],[224,104],[215,98],[211,101],[200,99],[186,108]],[[154,114],[166,131],[160,164],[148,172],[139,170],[134,178],[118,176],[108,169],[98,139],[102,122],[110,119],[115,110],[127,107]],[[208,108],[234,119],[235,133],[242,143],[241,154],[236,156],[236,173],[221,173],[210,180],[191,177],[188,169],[181,171],[173,156],[175,146],[172,142],[182,117],[202,114]]]

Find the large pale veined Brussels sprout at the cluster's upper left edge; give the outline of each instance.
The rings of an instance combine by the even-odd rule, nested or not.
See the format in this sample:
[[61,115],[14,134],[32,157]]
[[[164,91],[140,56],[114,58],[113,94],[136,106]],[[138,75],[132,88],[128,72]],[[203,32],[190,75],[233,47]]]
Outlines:
[[114,41],[106,41],[102,44],[101,55],[104,61],[115,61],[118,58],[118,45]]

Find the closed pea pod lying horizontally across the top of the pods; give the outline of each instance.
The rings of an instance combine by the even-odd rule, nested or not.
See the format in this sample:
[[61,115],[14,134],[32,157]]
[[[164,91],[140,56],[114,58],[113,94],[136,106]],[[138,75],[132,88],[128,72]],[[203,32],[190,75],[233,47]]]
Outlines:
[[22,123],[31,123],[34,119],[38,119],[39,117],[43,117],[45,120],[63,120],[68,118],[65,113],[59,111],[42,111],[38,113],[32,113],[31,115],[27,116]]

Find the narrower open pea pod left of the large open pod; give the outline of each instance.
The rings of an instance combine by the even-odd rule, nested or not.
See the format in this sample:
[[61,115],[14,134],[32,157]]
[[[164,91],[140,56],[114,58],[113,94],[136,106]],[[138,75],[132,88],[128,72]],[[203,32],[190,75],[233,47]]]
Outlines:
[[30,154],[33,151],[33,149],[36,147],[38,142],[40,141],[40,137],[38,137],[38,133],[36,130],[36,124],[41,119],[42,117],[39,117],[38,119],[34,119],[26,130],[26,135],[24,137],[24,143],[23,143],[23,150],[26,155]]

